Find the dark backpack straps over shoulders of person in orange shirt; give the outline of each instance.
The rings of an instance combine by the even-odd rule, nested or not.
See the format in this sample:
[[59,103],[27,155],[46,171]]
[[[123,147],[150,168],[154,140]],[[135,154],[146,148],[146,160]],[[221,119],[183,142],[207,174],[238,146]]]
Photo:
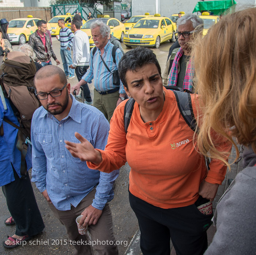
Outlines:
[[[196,120],[193,113],[191,96],[190,93],[184,92],[180,87],[177,86],[164,86],[166,89],[172,89],[176,97],[178,108],[180,113],[189,127],[195,131],[196,130]],[[130,98],[124,106],[124,129],[127,133],[127,128],[131,121],[132,111],[134,107],[135,100]]]

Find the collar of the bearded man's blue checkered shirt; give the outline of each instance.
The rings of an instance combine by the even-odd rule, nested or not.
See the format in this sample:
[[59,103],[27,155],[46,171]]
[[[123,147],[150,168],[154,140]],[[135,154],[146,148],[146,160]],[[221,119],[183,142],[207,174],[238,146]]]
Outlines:
[[[79,102],[71,94],[69,96],[72,98],[72,105],[71,105],[70,111],[68,113],[68,116],[65,117],[64,119],[67,119],[68,117],[71,117],[71,119],[73,119],[77,123],[81,123],[82,108],[81,108]],[[42,113],[38,117],[43,118],[46,115],[49,119],[53,119],[53,117],[54,117],[46,109],[43,109]]]

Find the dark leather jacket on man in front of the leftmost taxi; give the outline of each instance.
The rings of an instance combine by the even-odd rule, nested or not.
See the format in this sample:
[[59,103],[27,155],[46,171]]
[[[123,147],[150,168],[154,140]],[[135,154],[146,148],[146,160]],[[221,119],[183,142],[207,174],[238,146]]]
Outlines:
[[[46,35],[46,44],[44,46],[44,43],[42,42],[42,39],[37,34],[37,30],[29,36],[29,45],[33,48],[36,58],[35,61],[41,61],[46,62],[49,61],[51,57],[53,57],[54,60],[56,60],[56,55],[53,52],[52,44],[50,42],[49,35],[45,33]],[[47,48],[47,53],[45,51],[45,47]]]

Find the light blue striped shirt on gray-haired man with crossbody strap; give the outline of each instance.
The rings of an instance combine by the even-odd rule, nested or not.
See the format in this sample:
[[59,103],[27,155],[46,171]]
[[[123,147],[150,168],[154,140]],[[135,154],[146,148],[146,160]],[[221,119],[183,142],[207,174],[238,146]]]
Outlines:
[[[123,56],[123,53],[120,49],[117,48],[116,50],[116,64],[113,62],[112,58],[112,49],[114,45],[108,41],[106,46],[104,47],[104,53],[102,55],[102,58],[104,59],[106,65],[108,66],[109,70],[113,72],[114,70],[117,70],[118,63]],[[91,50],[90,55],[90,68],[87,70],[86,74],[82,77],[82,79],[88,83],[91,83],[91,81],[94,78],[94,86],[95,89],[98,91],[108,91],[110,89],[114,89],[117,87],[117,85],[113,85],[113,75],[106,69],[106,66],[103,64],[101,57],[100,57],[101,51],[99,48],[97,48],[94,56],[93,56],[93,50]],[[124,85],[120,80],[120,94],[124,94]]]

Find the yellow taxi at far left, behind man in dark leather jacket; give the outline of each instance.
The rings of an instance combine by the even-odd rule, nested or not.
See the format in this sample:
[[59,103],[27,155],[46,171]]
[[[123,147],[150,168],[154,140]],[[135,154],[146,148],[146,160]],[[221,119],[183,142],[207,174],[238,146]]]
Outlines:
[[[28,15],[27,18],[12,19],[9,22],[7,34],[11,43],[23,44],[29,40],[29,36],[37,30],[39,18]],[[51,32],[51,26],[47,23],[47,28]]]

